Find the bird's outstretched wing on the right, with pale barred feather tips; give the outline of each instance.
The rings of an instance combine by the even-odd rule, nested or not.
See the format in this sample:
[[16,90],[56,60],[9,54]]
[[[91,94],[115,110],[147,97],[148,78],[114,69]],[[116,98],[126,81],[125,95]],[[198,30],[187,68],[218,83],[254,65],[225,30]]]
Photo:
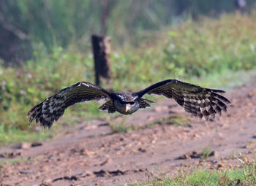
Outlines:
[[187,82],[178,80],[165,80],[157,82],[150,87],[138,92],[139,96],[145,93],[162,95],[167,98],[173,98],[179,105],[184,106],[185,111],[198,117],[215,117],[221,115],[222,111],[227,111],[227,105],[230,101],[219,93],[225,93],[223,90],[214,90],[201,88]]

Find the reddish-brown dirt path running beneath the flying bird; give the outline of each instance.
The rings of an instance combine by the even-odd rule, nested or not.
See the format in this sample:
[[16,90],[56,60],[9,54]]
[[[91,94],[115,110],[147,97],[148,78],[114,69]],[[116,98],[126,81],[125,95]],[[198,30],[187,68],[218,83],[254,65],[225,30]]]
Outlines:
[[[255,158],[256,83],[225,96],[232,104],[227,114],[214,121],[192,117],[188,126],[175,126],[166,120],[149,128],[110,134],[108,123],[98,120],[69,126],[61,138],[36,147],[4,147],[0,160],[24,161],[2,166],[0,185],[124,185],[161,174],[173,176],[181,168],[239,166],[234,155]],[[177,114],[190,117],[174,101],[162,100],[128,117],[124,124],[145,126]],[[212,151],[205,160],[198,158],[203,147]]]

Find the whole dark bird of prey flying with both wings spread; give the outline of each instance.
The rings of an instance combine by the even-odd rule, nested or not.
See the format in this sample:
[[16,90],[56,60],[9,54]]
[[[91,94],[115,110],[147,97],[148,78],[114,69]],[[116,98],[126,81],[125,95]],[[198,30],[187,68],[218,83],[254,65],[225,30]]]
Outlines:
[[185,111],[197,117],[215,117],[221,115],[222,111],[227,111],[230,104],[227,98],[219,95],[225,93],[223,90],[201,88],[187,82],[178,80],[165,80],[157,82],[143,90],[134,93],[110,92],[90,82],[78,82],[68,88],[64,88],[42,103],[34,106],[28,113],[29,123],[36,120],[43,127],[50,128],[54,121],[64,114],[64,110],[73,104],[84,101],[107,100],[105,104],[99,106],[99,110],[109,113],[120,112],[123,115],[130,115],[138,109],[151,106],[150,101],[143,98],[144,94],[157,94],[167,98],[173,98]]

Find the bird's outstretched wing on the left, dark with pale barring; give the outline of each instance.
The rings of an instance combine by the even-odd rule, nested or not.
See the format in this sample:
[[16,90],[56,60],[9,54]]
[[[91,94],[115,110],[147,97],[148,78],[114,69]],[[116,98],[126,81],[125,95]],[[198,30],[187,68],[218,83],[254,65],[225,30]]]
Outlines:
[[111,99],[110,92],[89,82],[78,82],[68,88],[64,88],[42,103],[34,106],[28,113],[29,123],[33,120],[41,123],[43,127],[50,128],[54,120],[64,114],[64,110],[73,104],[99,99]]

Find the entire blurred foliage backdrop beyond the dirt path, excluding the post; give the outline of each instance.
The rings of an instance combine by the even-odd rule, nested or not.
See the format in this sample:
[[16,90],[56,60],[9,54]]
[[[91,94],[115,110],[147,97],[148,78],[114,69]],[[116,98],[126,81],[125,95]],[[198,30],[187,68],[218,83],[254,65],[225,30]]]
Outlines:
[[[91,34],[112,37],[113,90],[170,78],[223,87],[228,74],[256,66],[254,2],[0,0],[0,144],[20,131],[39,133],[28,125],[31,106],[94,82]],[[61,120],[104,117],[98,106],[76,104]]]

